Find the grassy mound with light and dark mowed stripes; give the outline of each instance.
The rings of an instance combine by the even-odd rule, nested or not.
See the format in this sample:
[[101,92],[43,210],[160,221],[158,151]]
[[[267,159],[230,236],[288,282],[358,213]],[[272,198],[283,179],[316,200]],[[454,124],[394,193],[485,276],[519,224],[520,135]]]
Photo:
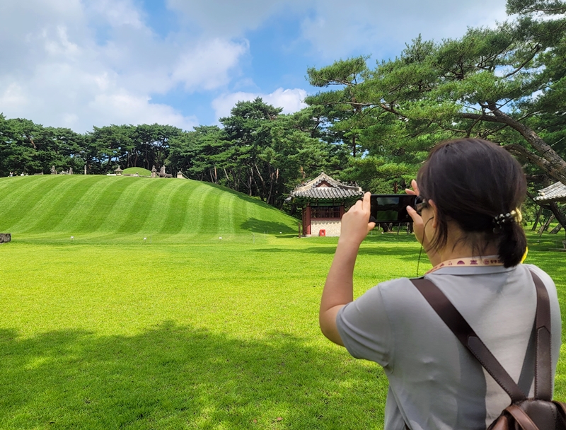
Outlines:
[[0,233],[12,233],[14,240],[146,236],[186,243],[221,235],[235,240],[252,233],[289,234],[297,225],[296,219],[245,194],[176,178],[0,178],[0,207]]

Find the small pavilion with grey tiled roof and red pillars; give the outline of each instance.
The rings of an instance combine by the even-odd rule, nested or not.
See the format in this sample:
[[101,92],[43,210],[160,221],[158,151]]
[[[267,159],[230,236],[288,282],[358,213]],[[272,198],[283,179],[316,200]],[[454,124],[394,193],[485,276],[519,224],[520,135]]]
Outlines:
[[363,195],[362,188],[346,185],[323,172],[296,187],[287,202],[303,208],[303,236],[340,236],[342,215]]

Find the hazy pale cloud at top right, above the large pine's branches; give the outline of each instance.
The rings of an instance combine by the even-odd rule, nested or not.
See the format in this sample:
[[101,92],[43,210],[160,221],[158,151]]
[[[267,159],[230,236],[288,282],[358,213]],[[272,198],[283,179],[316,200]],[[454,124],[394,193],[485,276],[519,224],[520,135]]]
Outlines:
[[304,18],[303,37],[325,59],[351,52],[400,53],[406,42],[422,34],[425,40],[459,37],[467,27],[504,21],[505,0],[360,0],[342,7],[338,0],[316,0],[316,13]]

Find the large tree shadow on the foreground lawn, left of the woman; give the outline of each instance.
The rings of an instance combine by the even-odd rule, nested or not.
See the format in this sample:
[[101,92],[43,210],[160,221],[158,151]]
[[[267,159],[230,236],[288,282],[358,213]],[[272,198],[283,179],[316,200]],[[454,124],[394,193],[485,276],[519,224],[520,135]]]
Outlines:
[[282,332],[241,340],[173,322],[132,337],[68,330],[20,339],[0,330],[0,351],[4,429],[360,429],[383,422],[382,371]]

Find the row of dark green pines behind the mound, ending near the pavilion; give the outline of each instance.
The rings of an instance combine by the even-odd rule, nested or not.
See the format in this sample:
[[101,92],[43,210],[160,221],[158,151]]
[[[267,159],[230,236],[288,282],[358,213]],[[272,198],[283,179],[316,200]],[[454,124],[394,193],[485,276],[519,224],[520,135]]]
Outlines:
[[236,103],[223,127],[191,131],[161,124],[93,127],[79,134],[0,115],[0,176],[72,168],[91,175],[118,167],[172,173],[213,182],[282,207],[290,190],[324,170],[340,175],[348,153],[316,117],[316,108],[282,115],[261,98]]

